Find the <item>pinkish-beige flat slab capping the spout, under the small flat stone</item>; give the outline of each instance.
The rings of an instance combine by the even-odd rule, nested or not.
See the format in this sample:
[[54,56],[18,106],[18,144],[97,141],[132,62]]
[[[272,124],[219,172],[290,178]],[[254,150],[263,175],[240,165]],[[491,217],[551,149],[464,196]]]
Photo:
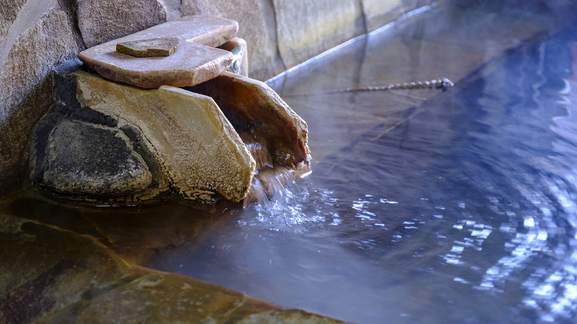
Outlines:
[[[144,88],[186,87],[203,83],[225,71],[233,60],[222,45],[236,35],[238,22],[193,15],[158,24],[80,52],[79,59],[104,78]],[[118,43],[151,38],[177,38],[178,50],[168,57],[134,57],[116,51]]]

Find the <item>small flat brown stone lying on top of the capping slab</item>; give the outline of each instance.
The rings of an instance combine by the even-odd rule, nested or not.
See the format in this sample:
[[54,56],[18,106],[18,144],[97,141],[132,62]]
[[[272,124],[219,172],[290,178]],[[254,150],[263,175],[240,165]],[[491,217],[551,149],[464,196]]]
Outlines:
[[178,50],[178,38],[152,38],[116,44],[116,52],[135,57],[170,56]]

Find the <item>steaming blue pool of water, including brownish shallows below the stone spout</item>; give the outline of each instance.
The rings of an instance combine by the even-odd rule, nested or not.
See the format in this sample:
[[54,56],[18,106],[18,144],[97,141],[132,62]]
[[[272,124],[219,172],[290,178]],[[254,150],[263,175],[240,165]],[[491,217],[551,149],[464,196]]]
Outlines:
[[277,194],[245,209],[25,192],[0,211],[353,323],[576,323],[577,15],[521,7],[428,6],[269,80],[313,173],[269,175]]

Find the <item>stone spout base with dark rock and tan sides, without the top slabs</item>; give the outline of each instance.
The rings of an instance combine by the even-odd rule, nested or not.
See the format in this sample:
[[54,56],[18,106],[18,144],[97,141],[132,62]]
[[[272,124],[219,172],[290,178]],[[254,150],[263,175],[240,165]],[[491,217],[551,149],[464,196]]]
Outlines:
[[309,171],[306,122],[262,82],[228,72],[187,90],[142,89],[85,71],[55,80],[65,89],[56,91],[60,104],[39,127],[31,160],[32,178],[53,192],[134,203],[170,185],[187,199],[247,202],[260,171]]

